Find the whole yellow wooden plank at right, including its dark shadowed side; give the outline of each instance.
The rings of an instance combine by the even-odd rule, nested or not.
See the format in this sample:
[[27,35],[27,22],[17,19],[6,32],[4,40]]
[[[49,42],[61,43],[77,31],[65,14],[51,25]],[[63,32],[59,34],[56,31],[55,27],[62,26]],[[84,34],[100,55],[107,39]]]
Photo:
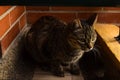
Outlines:
[[111,58],[113,64],[120,70],[120,43],[114,37],[118,36],[119,27],[112,24],[96,24],[95,29],[104,42],[102,44],[105,54]]

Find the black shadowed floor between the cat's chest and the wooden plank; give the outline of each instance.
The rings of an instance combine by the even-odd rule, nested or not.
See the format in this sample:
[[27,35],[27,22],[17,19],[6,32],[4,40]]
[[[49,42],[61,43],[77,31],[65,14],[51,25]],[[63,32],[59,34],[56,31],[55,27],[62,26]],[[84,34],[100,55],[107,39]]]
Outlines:
[[[80,59],[80,68],[85,80],[120,80],[120,72],[114,65],[106,62],[100,46],[84,54]],[[104,53],[104,52],[102,52]]]

